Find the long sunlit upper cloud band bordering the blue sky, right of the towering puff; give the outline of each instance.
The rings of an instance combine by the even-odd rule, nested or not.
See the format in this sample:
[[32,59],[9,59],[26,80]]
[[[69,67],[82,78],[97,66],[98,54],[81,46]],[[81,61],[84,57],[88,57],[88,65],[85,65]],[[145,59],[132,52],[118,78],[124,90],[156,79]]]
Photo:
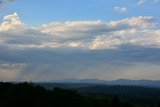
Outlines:
[[37,30],[42,33],[61,38],[81,38],[93,35],[104,34],[117,30],[130,28],[147,28],[156,26],[154,18],[150,16],[139,16],[126,18],[119,21],[77,21],[77,22],[54,22],[45,24]]

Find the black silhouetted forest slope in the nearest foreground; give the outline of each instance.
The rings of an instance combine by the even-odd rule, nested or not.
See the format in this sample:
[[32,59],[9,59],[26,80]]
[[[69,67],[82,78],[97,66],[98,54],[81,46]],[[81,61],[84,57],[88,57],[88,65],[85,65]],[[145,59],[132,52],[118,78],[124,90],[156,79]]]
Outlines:
[[[127,87],[117,87],[116,90],[108,90],[119,93],[121,88],[125,88],[127,94]],[[96,94],[94,92],[86,94],[88,91],[93,91],[92,89],[97,90]],[[83,90],[80,90],[77,92],[57,87],[48,90],[33,83],[0,82],[0,107],[160,107],[160,102],[158,103],[160,99],[156,99],[155,103],[141,102],[140,99],[136,99],[136,102],[123,99],[118,94],[107,96],[106,93],[101,93],[101,90],[106,90],[102,87],[83,88]],[[133,90],[135,90],[134,87]],[[137,96],[141,96],[143,91],[140,91]],[[151,91],[153,92],[149,93],[151,98],[154,97],[154,93],[157,93],[157,95],[160,93],[159,89]],[[148,101],[152,100],[148,99]]]

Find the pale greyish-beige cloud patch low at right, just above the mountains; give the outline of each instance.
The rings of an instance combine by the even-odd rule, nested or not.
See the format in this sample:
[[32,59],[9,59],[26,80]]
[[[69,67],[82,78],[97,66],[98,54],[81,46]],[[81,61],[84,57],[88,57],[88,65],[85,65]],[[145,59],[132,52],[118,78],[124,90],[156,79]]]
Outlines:
[[159,65],[154,65],[150,63],[138,63],[131,67],[122,68],[122,71],[119,71],[119,76],[115,76],[115,78],[125,78],[125,79],[151,79],[151,80],[159,80],[158,76]]

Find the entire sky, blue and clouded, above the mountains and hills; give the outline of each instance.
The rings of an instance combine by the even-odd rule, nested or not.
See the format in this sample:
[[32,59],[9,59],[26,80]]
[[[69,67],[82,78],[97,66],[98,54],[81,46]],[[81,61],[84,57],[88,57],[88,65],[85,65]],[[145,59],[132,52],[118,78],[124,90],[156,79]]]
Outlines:
[[0,0],[0,80],[160,80],[160,0]]

